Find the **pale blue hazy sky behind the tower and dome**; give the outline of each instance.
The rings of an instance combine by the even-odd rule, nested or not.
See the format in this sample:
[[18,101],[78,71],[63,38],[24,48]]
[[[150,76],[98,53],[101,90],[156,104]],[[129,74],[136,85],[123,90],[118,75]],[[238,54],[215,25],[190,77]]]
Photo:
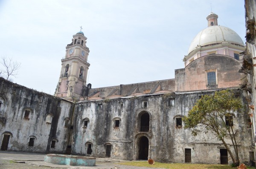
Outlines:
[[21,63],[13,82],[53,95],[82,26],[92,88],[174,79],[211,6],[245,42],[244,0],[0,0],[0,57]]

